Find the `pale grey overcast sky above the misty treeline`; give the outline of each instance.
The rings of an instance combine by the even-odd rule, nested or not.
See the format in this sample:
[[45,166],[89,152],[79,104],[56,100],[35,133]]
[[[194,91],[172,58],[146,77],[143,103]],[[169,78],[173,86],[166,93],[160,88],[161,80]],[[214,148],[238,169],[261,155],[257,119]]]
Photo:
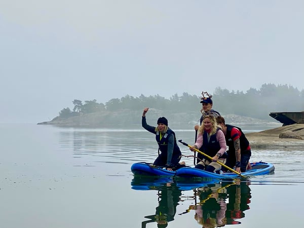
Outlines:
[[304,89],[302,0],[2,0],[0,29],[0,123],[74,99]]

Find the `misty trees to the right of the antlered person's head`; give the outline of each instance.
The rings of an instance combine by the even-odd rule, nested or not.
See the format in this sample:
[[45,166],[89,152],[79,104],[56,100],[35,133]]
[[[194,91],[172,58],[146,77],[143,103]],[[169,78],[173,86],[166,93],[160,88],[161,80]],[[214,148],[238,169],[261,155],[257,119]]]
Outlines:
[[216,98],[220,112],[270,120],[270,112],[302,111],[302,95],[303,91],[299,92],[292,86],[263,84],[259,90],[250,88],[246,93],[217,88],[214,100]]

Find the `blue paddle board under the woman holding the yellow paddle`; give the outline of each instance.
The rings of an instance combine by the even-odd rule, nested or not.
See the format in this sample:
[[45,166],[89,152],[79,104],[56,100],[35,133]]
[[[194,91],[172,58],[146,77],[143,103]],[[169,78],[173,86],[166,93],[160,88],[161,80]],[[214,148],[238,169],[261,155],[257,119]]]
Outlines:
[[[251,163],[251,169],[246,170],[246,172],[241,173],[242,176],[250,177],[256,175],[265,175],[274,172],[275,167],[271,163],[265,162],[257,162]],[[218,179],[225,179],[225,178],[239,178],[240,176],[236,173],[226,172],[226,173],[211,173],[205,170],[196,169],[196,168],[189,168],[183,167],[176,171],[176,177],[207,177],[207,178],[218,178]]]

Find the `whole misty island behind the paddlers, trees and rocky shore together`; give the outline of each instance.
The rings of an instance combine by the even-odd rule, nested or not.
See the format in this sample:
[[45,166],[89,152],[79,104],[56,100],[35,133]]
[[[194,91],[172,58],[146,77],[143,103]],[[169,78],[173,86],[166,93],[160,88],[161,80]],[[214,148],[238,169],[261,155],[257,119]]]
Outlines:
[[[63,108],[59,116],[49,122],[63,127],[139,128],[144,107],[150,108],[149,122],[159,117],[169,120],[172,128],[192,129],[201,113],[201,95],[183,93],[166,99],[160,95],[139,97],[126,95],[113,98],[105,104],[96,99],[72,101],[73,108]],[[274,111],[304,110],[304,90],[288,85],[263,84],[259,90],[229,91],[216,88],[212,94],[213,108],[221,113],[227,123],[276,122],[269,116]]]

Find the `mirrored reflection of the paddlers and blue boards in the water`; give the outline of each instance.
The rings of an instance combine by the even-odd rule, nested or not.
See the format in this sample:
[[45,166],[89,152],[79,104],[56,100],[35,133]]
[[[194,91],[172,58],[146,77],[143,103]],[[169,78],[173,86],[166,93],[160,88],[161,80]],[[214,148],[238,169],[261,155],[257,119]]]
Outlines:
[[193,211],[194,219],[203,228],[240,224],[239,219],[245,217],[244,211],[250,209],[250,182],[240,180],[179,182],[170,178],[134,177],[131,186],[136,190],[158,191],[156,213],[144,216],[148,220],[142,222],[142,228],[149,222],[167,227],[168,222],[174,220],[179,201],[190,205],[178,215],[187,216]]

